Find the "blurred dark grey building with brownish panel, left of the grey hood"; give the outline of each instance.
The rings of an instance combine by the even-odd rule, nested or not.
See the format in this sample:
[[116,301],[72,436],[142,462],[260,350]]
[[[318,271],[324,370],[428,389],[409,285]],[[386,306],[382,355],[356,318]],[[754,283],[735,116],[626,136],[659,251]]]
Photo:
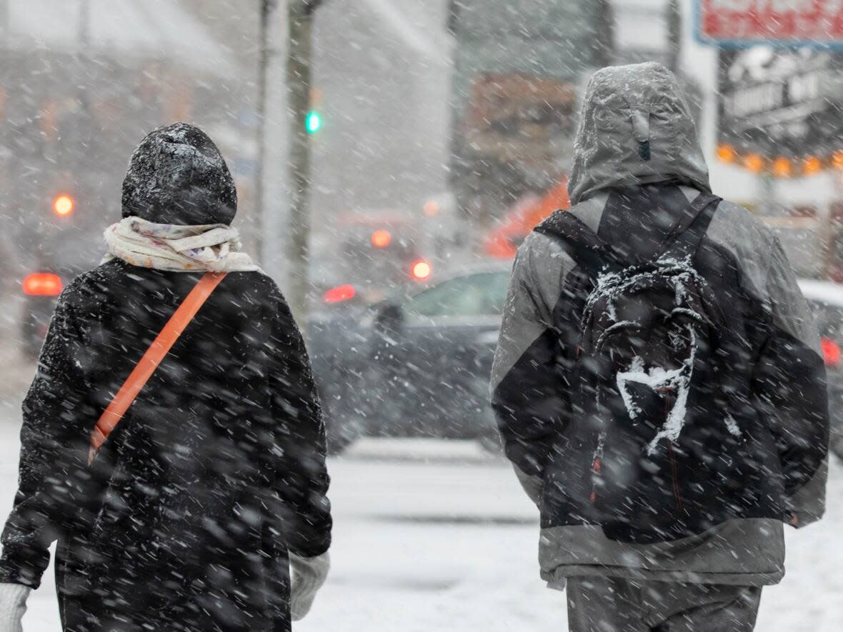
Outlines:
[[[524,195],[544,195],[569,169],[577,88],[589,68],[611,61],[607,2],[448,0],[448,173],[471,233],[491,228]],[[637,3],[638,13],[654,13],[646,4]],[[635,28],[651,23],[638,19]]]

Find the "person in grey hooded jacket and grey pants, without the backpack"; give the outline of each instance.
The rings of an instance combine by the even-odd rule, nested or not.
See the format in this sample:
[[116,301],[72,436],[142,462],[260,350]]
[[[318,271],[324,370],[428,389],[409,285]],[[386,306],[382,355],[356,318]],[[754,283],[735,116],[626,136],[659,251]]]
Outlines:
[[[577,408],[583,372],[574,367],[583,305],[605,277],[588,276],[576,249],[555,236],[564,223],[556,212],[518,249],[491,383],[507,458],[540,508],[541,576],[551,588],[566,586],[571,630],[752,630],[761,587],[784,575],[783,523],[803,527],[824,512],[828,405],[808,305],[776,237],[744,208],[710,196],[695,123],[660,64],[593,75],[568,189],[566,222],[617,260],[656,253],[683,213],[711,202],[692,262],[715,293],[731,288],[718,297],[725,322],[738,329],[731,333],[739,357],[728,370],[745,386],[751,421],[710,420],[724,441],[740,437],[735,460],[743,459],[743,480],[708,496],[716,517],[702,528],[636,538],[631,519],[615,520],[613,530],[592,511],[604,446],[589,443],[597,433]],[[655,372],[636,371],[640,382],[655,383]],[[637,410],[627,408],[632,423]],[[663,434],[656,441],[670,449],[682,432],[675,444]],[[643,470],[636,476],[647,478]],[[628,481],[630,506],[652,500],[636,497],[639,484]],[[677,515],[682,485],[674,472]],[[627,515],[614,509],[615,517]],[[684,510],[679,517],[689,520]]]

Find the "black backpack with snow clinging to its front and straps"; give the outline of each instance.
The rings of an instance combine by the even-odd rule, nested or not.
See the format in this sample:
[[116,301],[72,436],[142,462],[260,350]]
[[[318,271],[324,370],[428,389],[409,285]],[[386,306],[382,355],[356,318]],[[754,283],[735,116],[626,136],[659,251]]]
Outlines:
[[[744,429],[718,362],[728,323],[694,258],[720,198],[699,195],[656,256],[628,264],[572,213],[537,228],[585,279],[573,339],[572,424],[588,481],[584,522],[612,539],[652,543],[702,533],[739,490]],[[578,315],[578,313],[577,313]],[[575,344],[571,344],[571,341]]]

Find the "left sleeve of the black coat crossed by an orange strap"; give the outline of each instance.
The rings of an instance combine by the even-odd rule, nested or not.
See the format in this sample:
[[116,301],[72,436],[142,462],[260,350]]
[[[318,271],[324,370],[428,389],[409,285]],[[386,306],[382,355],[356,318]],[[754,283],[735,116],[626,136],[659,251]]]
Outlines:
[[78,521],[86,504],[84,459],[89,428],[79,367],[82,335],[70,286],[59,297],[35,380],[24,399],[19,489],[3,529],[0,581],[37,587],[49,547]]

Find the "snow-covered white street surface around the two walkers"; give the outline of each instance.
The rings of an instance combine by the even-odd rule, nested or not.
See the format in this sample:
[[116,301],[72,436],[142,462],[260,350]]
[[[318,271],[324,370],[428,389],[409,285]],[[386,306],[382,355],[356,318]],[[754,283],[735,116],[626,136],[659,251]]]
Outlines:
[[[18,417],[0,409],[0,508],[11,504]],[[333,571],[301,632],[566,629],[565,600],[538,577],[534,507],[506,463],[470,442],[368,441],[332,459]],[[843,467],[828,518],[788,534],[787,577],[765,589],[762,632],[843,629]],[[51,576],[26,632],[58,630]]]

